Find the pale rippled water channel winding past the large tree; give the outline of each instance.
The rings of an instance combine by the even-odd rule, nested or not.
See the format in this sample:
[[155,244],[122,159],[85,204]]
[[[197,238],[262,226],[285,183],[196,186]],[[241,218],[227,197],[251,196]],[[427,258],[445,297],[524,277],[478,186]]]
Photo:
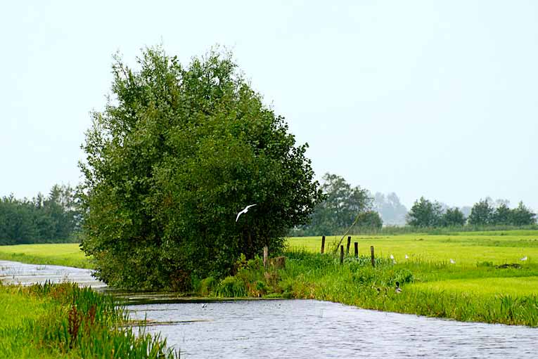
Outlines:
[[[0,261],[4,282],[70,280],[91,271]],[[1,304],[1,303],[0,303]],[[538,329],[366,311],[323,301],[224,301],[128,307],[155,321],[181,358],[538,358]]]

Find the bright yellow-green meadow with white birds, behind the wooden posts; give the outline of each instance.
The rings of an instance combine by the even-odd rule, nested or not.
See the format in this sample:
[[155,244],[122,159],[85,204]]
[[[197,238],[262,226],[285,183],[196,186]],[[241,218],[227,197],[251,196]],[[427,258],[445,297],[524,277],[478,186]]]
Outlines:
[[[326,237],[326,251],[340,238]],[[347,238],[342,244],[346,242]],[[392,254],[395,268],[411,270],[415,280],[409,290],[481,296],[538,295],[537,230],[353,236],[353,242],[359,242],[359,255],[369,255],[373,246],[376,256],[387,258]],[[288,247],[319,252],[321,237],[292,237]],[[406,255],[409,259],[405,259]],[[521,261],[524,257],[527,260]],[[506,263],[521,268],[496,267]]]

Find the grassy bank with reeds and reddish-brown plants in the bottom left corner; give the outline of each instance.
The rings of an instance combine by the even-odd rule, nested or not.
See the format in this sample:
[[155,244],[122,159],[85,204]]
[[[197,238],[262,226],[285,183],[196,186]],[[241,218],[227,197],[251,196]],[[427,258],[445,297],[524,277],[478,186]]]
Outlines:
[[111,296],[76,284],[0,284],[2,358],[179,358],[158,335],[136,332]]

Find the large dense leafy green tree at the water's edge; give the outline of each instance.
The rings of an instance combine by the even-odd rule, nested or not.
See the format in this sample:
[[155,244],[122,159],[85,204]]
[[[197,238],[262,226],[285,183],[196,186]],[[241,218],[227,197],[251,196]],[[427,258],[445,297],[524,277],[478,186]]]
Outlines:
[[229,54],[182,66],[147,48],[137,62],[116,58],[113,96],[83,145],[82,247],[98,278],[186,289],[193,277],[229,273],[241,253],[283,247],[321,198],[307,146]]

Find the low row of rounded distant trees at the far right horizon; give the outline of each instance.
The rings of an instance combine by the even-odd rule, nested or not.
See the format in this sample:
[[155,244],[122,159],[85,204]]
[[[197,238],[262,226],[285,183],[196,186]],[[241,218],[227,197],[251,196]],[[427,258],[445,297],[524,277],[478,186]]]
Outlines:
[[443,209],[439,202],[421,197],[416,200],[407,214],[407,224],[413,227],[435,228],[451,226],[530,226],[536,223],[536,214],[523,202],[511,209],[508,203],[499,202],[494,207],[487,198],[475,203],[468,217],[454,207]]

